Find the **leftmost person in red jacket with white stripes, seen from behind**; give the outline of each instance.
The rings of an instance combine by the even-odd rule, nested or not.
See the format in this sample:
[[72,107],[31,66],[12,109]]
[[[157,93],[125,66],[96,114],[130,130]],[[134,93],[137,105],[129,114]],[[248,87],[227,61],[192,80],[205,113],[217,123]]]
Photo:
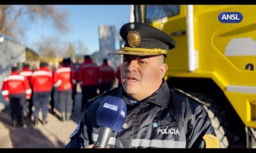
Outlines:
[[12,67],[11,75],[4,78],[2,94],[6,101],[10,101],[13,127],[22,126],[22,104],[30,99],[31,88],[28,79],[19,75],[19,69]]

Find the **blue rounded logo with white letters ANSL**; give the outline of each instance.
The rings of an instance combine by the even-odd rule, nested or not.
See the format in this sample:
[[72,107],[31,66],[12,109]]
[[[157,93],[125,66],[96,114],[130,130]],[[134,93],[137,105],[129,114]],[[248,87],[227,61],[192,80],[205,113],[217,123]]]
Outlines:
[[243,15],[239,12],[221,12],[219,15],[221,23],[239,23],[243,20]]

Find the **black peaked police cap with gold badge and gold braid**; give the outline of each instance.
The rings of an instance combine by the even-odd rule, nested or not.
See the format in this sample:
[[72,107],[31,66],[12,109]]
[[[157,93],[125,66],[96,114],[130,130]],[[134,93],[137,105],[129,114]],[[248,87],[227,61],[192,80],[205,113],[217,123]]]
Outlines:
[[176,43],[171,36],[148,24],[127,23],[120,29],[120,36],[125,41],[124,47],[116,54],[148,56],[168,54]]

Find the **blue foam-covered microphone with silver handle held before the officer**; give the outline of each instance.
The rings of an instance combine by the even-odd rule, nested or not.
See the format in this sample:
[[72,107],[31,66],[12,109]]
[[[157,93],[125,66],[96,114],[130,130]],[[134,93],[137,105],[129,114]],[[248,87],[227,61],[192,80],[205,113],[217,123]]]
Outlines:
[[119,131],[126,117],[126,104],[123,99],[106,96],[97,110],[96,121],[100,126],[95,148],[106,148],[113,131]]

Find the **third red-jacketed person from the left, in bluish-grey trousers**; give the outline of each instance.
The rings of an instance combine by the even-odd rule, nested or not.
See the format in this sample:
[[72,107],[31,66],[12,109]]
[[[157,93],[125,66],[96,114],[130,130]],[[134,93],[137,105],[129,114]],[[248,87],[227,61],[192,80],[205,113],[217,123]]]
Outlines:
[[33,72],[31,77],[33,85],[34,125],[38,124],[38,113],[42,107],[42,124],[47,124],[49,99],[52,90],[52,71],[47,62],[40,62],[40,68]]

